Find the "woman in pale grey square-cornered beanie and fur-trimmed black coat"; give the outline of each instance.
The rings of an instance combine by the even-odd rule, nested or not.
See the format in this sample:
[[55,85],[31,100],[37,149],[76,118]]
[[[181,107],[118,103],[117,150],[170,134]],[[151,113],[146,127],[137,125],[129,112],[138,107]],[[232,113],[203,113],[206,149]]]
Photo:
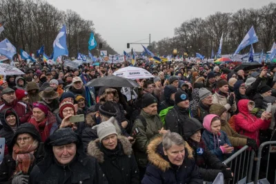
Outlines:
[[108,183],[139,184],[139,169],[128,138],[118,136],[114,117],[92,127],[99,138],[88,145],[88,154],[97,158]]

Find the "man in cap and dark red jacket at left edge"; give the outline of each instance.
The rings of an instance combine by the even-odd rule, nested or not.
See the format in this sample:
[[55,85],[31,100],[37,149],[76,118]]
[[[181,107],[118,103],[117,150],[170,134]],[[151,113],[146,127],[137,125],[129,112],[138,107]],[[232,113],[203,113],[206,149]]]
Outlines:
[[32,115],[32,111],[26,103],[17,100],[14,90],[10,88],[3,89],[1,95],[0,111],[12,108],[17,113],[21,123],[27,122]]

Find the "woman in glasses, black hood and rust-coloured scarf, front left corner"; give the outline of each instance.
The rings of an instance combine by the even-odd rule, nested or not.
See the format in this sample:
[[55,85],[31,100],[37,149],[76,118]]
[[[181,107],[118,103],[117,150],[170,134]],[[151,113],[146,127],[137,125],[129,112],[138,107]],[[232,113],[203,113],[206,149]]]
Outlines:
[[0,183],[28,184],[32,167],[43,160],[39,131],[28,122],[20,125],[8,149],[0,165]]

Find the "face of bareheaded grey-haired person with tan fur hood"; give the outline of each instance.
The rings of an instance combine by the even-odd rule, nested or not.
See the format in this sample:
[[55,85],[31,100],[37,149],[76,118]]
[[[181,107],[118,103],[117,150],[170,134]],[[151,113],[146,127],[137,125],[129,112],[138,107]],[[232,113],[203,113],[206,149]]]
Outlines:
[[164,150],[164,154],[168,156],[168,160],[170,160],[170,163],[174,165],[182,165],[184,158],[185,158],[185,147],[184,145],[172,145],[170,149]]

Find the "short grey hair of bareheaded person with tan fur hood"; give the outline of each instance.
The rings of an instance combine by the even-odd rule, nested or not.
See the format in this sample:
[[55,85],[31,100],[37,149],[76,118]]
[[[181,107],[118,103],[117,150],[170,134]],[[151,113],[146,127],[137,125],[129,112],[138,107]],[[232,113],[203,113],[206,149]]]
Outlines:
[[167,133],[163,137],[162,145],[165,150],[168,150],[168,149],[170,149],[170,147],[172,147],[172,145],[177,145],[177,146],[184,145],[185,146],[185,141],[176,132],[170,132],[168,130]]

